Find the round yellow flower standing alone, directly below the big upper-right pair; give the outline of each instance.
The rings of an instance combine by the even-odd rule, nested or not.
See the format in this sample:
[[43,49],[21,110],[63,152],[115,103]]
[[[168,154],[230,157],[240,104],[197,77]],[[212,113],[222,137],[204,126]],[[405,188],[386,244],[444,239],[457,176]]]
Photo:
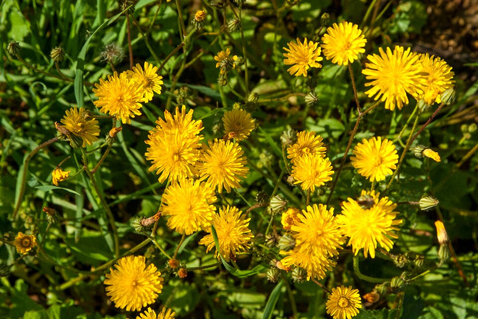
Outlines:
[[359,169],[359,174],[370,179],[379,181],[385,179],[386,175],[397,168],[397,150],[392,141],[381,140],[381,137],[372,137],[368,141],[363,139],[357,144],[353,151],[352,165]]

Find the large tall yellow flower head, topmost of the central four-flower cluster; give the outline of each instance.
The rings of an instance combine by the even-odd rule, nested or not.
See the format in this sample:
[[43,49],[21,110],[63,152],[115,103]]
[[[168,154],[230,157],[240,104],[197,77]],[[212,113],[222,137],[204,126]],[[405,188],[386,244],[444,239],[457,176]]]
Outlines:
[[156,128],[149,131],[145,156],[152,161],[149,171],[157,170],[156,174],[161,174],[160,182],[168,176],[169,181],[177,181],[198,174],[196,162],[201,147],[199,141],[203,138],[199,132],[203,128],[202,122],[193,120],[192,115],[193,110],[186,113],[184,105],[181,112],[176,107],[174,117],[164,111],[165,120],[159,118]]

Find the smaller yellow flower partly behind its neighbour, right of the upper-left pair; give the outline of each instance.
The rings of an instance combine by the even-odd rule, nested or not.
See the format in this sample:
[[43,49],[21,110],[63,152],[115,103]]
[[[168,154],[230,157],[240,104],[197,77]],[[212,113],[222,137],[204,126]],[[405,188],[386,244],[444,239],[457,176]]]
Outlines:
[[161,94],[161,80],[163,77],[157,74],[158,68],[152,64],[144,62],[144,69],[139,63],[133,67],[133,70],[127,71],[127,76],[141,87],[144,96],[144,102],[149,102],[153,99],[153,91]]

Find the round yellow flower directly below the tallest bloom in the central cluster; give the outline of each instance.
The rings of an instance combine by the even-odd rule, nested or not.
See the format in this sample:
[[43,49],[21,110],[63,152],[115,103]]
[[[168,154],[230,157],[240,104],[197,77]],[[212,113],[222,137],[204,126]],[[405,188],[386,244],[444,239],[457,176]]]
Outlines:
[[193,179],[180,179],[169,185],[162,196],[163,216],[168,219],[168,227],[186,235],[207,229],[214,219],[217,198],[213,189],[206,183]]

